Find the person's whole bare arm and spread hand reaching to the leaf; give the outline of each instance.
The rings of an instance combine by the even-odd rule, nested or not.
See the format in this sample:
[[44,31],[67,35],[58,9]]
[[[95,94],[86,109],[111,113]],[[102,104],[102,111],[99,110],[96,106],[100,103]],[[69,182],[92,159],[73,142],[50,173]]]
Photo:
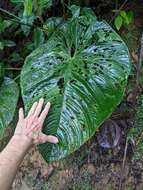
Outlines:
[[44,99],[35,102],[27,117],[22,108],[19,110],[19,120],[15,133],[6,148],[0,153],[0,189],[10,190],[19,165],[24,156],[34,144],[58,143],[52,135],[42,133],[43,123],[48,114],[50,103],[42,111]]

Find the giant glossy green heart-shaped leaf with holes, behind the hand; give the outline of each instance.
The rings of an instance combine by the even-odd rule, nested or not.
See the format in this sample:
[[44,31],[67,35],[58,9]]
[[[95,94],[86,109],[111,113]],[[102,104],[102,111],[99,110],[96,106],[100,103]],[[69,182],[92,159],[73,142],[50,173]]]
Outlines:
[[40,97],[50,101],[43,131],[59,138],[39,146],[46,161],[64,158],[94,135],[122,100],[129,72],[126,45],[89,9],[27,57],[21,73],[26,110]]

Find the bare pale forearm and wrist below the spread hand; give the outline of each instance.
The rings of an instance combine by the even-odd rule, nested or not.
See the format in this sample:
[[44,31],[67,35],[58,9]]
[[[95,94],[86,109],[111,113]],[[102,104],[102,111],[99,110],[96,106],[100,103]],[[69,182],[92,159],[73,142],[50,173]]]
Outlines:
[[31,141],[26,136],[13,136],[0,153],[0,189],[9,190]]

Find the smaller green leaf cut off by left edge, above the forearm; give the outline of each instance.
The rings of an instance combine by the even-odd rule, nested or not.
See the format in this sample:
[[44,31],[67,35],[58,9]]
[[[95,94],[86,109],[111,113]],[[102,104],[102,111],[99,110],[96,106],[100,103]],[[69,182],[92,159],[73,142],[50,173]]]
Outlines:
[[0,137],[13,119],[18,95],[17,84],[12,79],[5,77],[0,86]]

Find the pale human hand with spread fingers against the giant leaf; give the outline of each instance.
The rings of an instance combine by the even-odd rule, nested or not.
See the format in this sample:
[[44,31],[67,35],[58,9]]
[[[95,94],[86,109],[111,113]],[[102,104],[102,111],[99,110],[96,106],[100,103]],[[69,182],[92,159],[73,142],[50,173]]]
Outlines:
[[45,142],[58,143],[57,137],[42,133],[42,127],[50,108],[50,103],[48,102],[44,110],[41,112],[43,104],[43,98],[41,98],[39,102],[35,102],[30,109],[28,116],[25,118],[23,108],[19,109],[19,121],[14,136],[26,136],[30,139],[32,144]]

